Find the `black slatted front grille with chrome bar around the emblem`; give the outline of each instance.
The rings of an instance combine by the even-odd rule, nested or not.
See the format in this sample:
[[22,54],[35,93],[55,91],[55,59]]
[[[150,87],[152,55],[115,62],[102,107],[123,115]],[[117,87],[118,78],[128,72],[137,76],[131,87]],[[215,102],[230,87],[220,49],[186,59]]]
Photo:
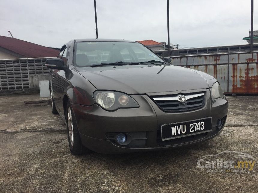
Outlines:
[[178,95],[159,95],[152,96],[152,100],[158,105],[161,110],[166,112],[182,112],[199,109],[205,104],[205,92],[182,94],[186,101],[184,104],[179,100]]

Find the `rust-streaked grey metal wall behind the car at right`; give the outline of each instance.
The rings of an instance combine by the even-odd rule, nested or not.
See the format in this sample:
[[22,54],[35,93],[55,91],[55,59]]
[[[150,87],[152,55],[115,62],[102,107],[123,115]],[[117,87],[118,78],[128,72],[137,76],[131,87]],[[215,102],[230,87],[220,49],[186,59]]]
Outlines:
[[225,93],[258,94],[258,52],[171,57],[172,64],[214,76]]

